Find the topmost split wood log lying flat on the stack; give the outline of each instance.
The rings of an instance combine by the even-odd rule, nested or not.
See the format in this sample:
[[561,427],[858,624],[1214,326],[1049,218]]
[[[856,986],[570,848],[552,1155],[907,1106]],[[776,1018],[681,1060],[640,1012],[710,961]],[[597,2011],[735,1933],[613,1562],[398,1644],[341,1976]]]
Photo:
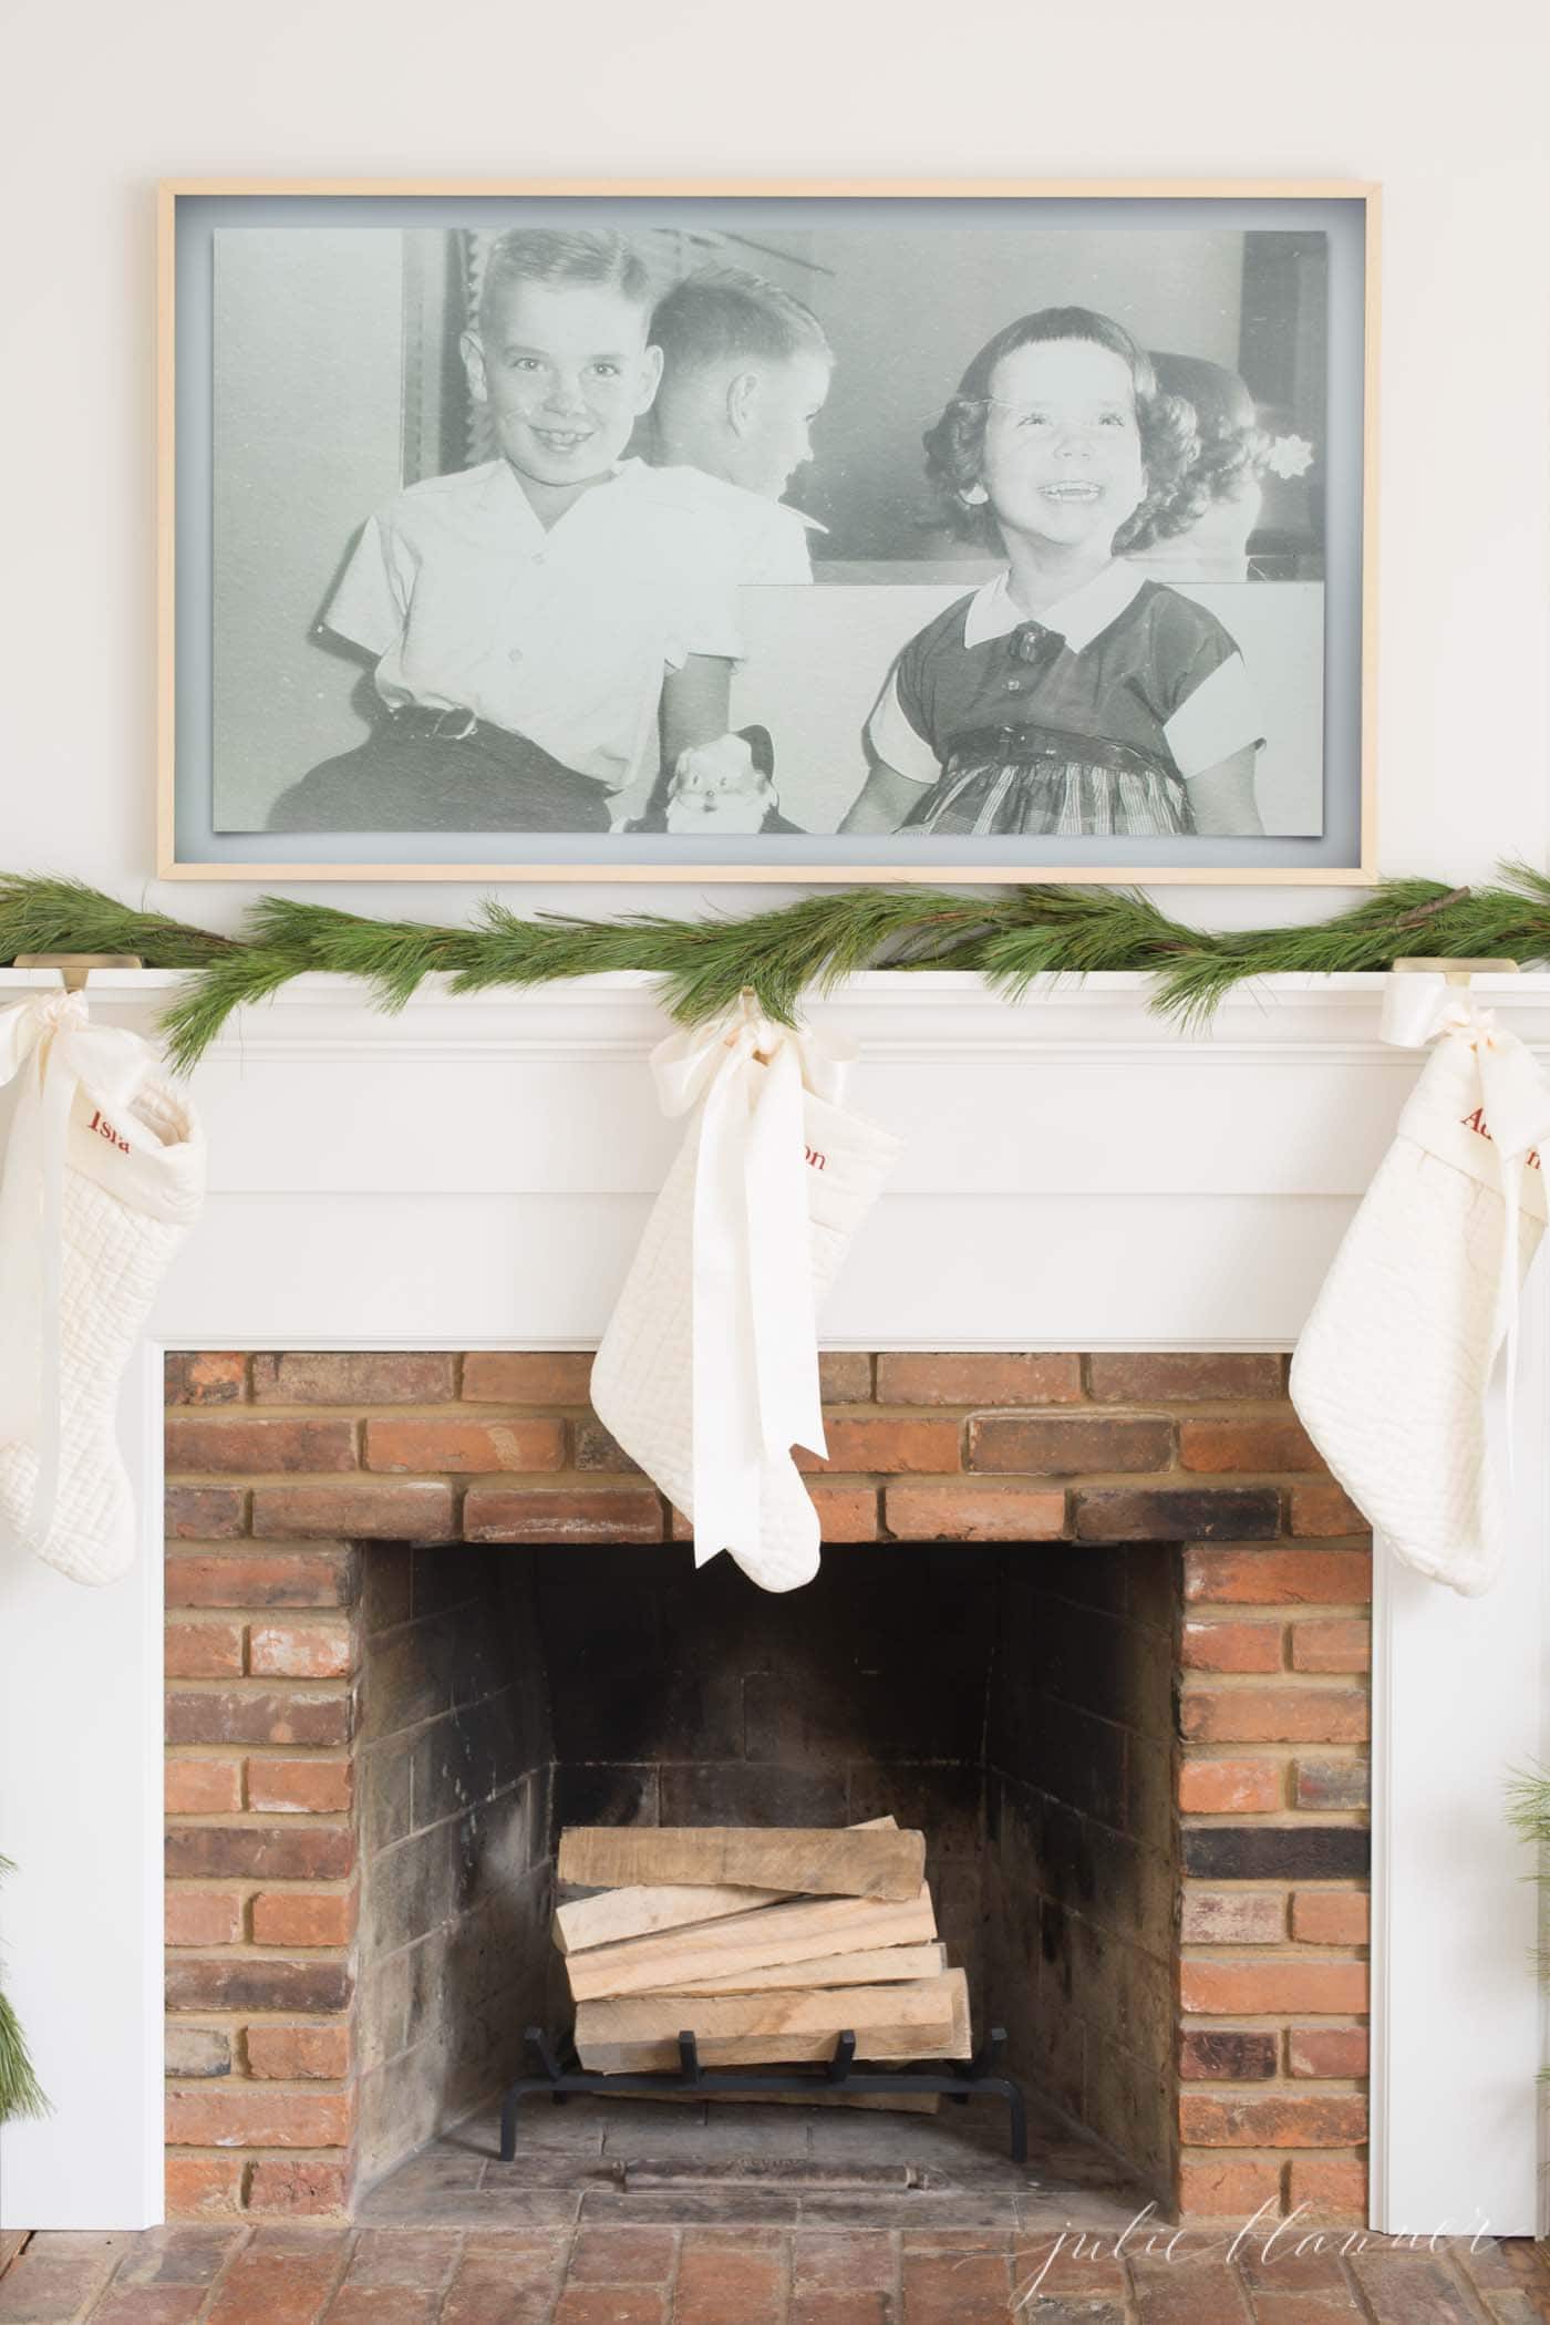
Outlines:
[[581,1888],[711,1883],[818,1897],[913,1897],[925,1834],[755,1825],[572,1825],[560,1881]]

